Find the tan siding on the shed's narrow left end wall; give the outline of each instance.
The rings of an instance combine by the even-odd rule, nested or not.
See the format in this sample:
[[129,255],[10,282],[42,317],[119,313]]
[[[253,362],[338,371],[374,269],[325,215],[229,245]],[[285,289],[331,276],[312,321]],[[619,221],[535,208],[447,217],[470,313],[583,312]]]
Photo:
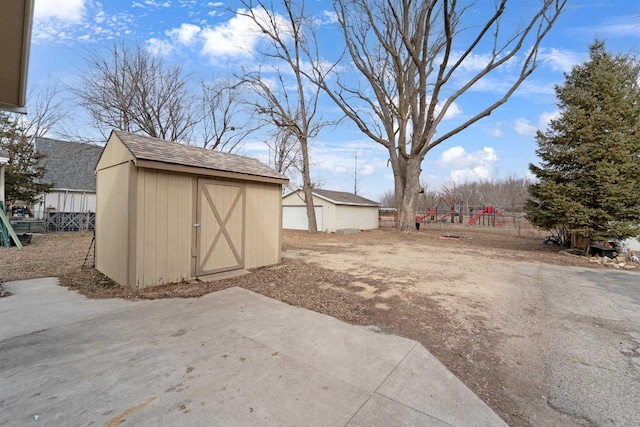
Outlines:
[[127,285],[128,186],[134,166],[122,163],[99,171],[96,207],[96,269]]

